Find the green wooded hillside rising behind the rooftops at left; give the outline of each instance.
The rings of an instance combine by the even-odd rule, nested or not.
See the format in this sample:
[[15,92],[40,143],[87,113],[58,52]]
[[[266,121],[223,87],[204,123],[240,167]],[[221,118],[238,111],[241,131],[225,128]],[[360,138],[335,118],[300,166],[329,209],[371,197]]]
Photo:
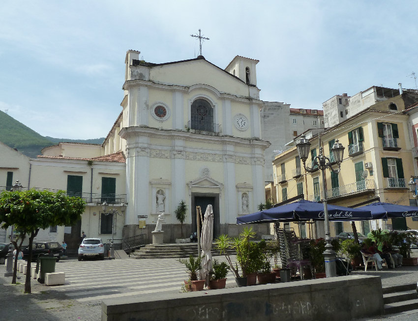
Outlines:
[[22,154],[36,157],[46,146],[56,145],[59,142],[102,144],[104,138],[71,140],[65,138],[43,137],[28,126],[0,111],[0,142],[16,148]]

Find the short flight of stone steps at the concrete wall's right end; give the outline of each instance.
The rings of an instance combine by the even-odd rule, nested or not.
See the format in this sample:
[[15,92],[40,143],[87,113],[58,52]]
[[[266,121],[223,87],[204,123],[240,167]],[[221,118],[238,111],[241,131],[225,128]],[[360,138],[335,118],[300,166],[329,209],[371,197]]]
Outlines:
[[418,309],[417,284],[383,288],[383,303],[385,314]]

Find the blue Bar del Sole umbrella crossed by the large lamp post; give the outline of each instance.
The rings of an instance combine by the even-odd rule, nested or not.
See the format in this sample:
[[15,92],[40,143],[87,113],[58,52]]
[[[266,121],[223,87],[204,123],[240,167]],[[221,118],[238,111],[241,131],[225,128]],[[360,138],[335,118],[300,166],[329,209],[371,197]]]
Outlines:
[[[277,221],[297,222],[311,219],[325,219],[324,204],[300,200],[237,217],[237,224],[274,223]],[[358,221],[373,218],[370,210],[328,204],[328,219],[330,221]]]

